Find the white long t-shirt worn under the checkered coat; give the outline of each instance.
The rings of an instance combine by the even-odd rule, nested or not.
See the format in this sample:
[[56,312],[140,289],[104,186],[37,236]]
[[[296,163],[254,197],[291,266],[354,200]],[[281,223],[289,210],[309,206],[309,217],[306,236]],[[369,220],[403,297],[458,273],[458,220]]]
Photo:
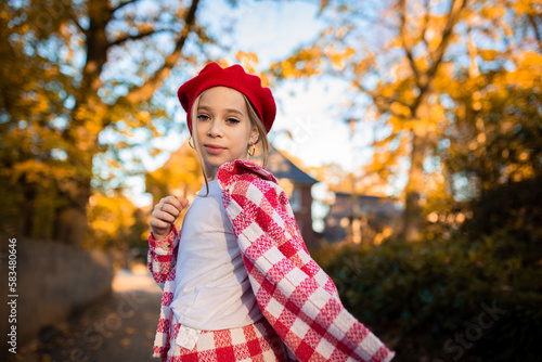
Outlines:
[[171,302],[175,322],[201,331],[245,326],[262,313],[218,180],[208,183],[209,195],[204,185],[182,221]]

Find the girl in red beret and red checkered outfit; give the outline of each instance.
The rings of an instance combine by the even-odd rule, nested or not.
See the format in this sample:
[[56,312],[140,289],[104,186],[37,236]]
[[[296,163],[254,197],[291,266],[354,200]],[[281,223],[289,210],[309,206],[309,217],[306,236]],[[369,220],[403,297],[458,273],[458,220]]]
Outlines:
[[[276,108],[257,76],[210,63],[179,88],[205,184],[154,207],[149,268],[163,288],[163,361],[389,361],[311,259],[276,179],[249,163]],[[193,141],[193,142],[192,142]],[[186,208],[182,232],[175,220]]]

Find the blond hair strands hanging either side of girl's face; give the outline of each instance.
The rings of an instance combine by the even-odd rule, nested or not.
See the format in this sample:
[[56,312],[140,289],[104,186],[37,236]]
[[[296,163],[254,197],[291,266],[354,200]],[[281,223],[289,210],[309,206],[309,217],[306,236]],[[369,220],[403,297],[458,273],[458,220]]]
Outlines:
[[[197,134],[196,133],[196,125],[197,125],[197,108],[199,106],[199,100],[202,99],[202,95],[205,93],[203,91],[194,101],[192,104],[192,109],[191,109],[191,122],[192,122],[192,134]],[[268,134],[266,127],[263,126],[263,122],[261,121],[260,117],[258,116],[258,113],[254,108],[253,104],[248,99],[246,98],[245,94],[241,93],[243,95],[243,99],[245,100],[246,108],[248,109],[248,120],[250,120],[250,126],[256,127],[258,130],[258,140],[256,141],[256,144],[261,142],[261,154],[262,154],[262,167],[266,167],[268,164],[268,158],[269,158],[269,140],[268,140]],[[197,155],[197,159],[199,160],[199,165],[202,166],[202,172],[205,179],[205,189],[207,190],[207,193],[205,196],[209,195],[209,181],[207,179],[207,173],[205,172],[205,161],[199,153],[199,144],[197,142],[197,137],[192,138],[194,141],[194,148]],[[247,145],[247,152],[248,152],[248,145]]]

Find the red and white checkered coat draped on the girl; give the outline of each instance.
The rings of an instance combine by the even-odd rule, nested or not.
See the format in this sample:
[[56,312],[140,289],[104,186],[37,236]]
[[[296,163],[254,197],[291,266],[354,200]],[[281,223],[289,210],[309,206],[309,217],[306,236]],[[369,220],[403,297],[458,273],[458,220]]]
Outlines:
[[[276,179],[238,159],[222,165],[217,178],[256,300],[288,352],[299,361],[391,360],[393,352],[343,307],[333,281],[309,256]],[[150,236],[149,267],[164,289],[154,357],[169,349],[179,238],[176,230],[160,242]]]

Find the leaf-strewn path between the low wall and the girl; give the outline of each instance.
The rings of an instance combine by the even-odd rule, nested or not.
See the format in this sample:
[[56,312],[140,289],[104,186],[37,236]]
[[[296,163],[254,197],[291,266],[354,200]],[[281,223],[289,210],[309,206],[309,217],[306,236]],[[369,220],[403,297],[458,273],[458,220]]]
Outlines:
[[159,362],[151,357],[162,290],[144,266],[119,270],[113,296],[41,333],[11,361]]

